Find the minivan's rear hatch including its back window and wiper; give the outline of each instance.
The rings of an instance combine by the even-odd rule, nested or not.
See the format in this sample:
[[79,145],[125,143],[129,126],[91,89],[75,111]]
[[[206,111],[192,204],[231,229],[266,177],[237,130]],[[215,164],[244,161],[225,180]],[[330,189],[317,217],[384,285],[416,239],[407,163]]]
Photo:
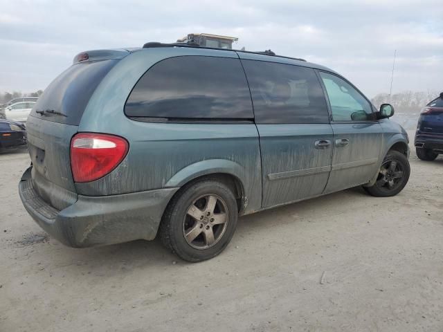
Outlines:
[[46,88],[30,113],[26,127],[34,187],[44,201],[58,210],[69,205],[68,196],[75,192],[71,138],[78,131],[91,95],[118,61],[100,59],[73,64]]

